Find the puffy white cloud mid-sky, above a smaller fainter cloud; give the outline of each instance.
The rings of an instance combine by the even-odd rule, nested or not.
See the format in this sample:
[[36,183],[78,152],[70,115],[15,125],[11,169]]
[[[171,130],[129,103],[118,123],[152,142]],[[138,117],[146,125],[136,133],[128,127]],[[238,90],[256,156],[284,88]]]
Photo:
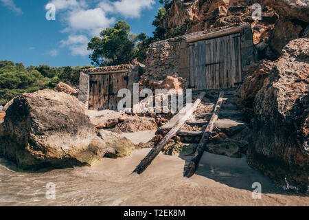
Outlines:
[[101,8],[95,8],[71,12],[68,23],[68,30],[87,31],[92,35],[98,35],[100,31],[115,23],[115,19],[108,19]]

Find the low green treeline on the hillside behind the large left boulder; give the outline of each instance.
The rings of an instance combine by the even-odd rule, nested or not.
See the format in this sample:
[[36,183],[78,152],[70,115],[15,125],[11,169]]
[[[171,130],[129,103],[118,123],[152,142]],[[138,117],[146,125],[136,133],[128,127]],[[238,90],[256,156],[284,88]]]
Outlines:
[[0,104],[15,96],[40,89],[53,89],[61,81],[78,85],[79,72],[85,67],[49,67],[48,65],[24,67],[22,63],[0,61]]

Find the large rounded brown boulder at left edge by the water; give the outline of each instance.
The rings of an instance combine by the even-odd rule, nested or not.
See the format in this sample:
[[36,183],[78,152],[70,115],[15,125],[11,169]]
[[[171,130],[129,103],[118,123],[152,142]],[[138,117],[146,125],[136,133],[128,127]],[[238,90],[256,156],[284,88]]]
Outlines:
[[26,170],[89,165],[106,153],[78,99],[55,91],[14,98],[1,130],[0,155]]

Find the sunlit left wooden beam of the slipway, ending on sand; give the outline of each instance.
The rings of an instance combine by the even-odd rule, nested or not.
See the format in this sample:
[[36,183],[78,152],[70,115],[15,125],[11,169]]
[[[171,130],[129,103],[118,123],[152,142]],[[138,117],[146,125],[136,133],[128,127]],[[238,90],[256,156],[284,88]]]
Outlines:
[[163,137],[161,142],[159,142],[159,144],[157,144],[157,146],[152,148],[152,150],[148,153],[148,155],[135,168],[133,173],[141,174],[141,173],[144,172],[144,170],[146,170],[146,168],[151,164],[151,162],[155,159],[155,157],[157,157],[157,155],[159,155],[159,153],[162,151],[163,147],[166,144],[168,144],[168,142],[170,142],[172,137],[174,137],[176,135],[177,131],[179,131],[179,129],[181,129],[181,127],[183,126],[183,124],[185,124],[185,122],[188,120],[188,118],[190,118],[190,115],[192,115],[192,113],[196,110],[196,108],[198,107],[198,104],[201,103],[201,101],[203,100],[205,95],[206,95],[206,93],[202,92],[200,94],[200,96],[198,96],[198,99],[194,102],[192,107],[190,107],[187,110],[187,112],[183,115],[182,118],[180,118],[179,122],[177,122],[175,124],[175,126],[170,130],[170,132],[168,132],[165,135],[165,137]]

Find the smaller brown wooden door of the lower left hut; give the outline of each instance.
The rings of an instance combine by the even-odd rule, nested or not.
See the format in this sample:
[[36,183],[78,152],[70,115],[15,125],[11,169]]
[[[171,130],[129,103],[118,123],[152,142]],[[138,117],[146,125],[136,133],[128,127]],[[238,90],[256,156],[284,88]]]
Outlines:
[[128,87],[128,73],[90,75],[89,82],[89,109],[117,110],[122,99],[117,94],[120,89]]

